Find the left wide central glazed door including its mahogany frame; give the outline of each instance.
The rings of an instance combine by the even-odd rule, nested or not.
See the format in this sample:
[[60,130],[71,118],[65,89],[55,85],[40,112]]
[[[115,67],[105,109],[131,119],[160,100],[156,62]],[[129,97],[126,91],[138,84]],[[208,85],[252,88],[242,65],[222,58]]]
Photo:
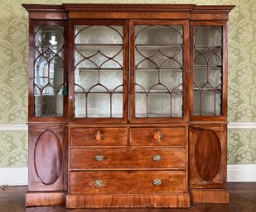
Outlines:
[[70,22],[70,120],[128,120],[128,22]]

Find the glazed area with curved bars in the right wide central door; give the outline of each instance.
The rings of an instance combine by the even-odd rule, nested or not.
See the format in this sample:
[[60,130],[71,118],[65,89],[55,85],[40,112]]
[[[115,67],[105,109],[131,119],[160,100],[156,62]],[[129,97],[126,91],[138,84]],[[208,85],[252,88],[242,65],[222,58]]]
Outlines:
[[183,116],[183,43],[182,26],[135,26],[136,117]]

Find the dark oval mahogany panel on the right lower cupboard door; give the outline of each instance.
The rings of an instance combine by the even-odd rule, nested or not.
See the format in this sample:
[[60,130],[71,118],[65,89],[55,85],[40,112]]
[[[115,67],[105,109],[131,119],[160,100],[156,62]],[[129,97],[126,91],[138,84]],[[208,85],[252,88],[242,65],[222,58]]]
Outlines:
[[213,181],[220,169],[220,140],[212,130],[201,130],[195,147],[196,170],[203,181]]

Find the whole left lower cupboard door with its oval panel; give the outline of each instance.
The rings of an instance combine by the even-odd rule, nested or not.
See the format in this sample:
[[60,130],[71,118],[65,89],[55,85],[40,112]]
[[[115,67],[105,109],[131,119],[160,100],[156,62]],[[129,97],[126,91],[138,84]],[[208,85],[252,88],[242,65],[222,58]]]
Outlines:
[[66,191],[65,125],[29,125],[28,191]]

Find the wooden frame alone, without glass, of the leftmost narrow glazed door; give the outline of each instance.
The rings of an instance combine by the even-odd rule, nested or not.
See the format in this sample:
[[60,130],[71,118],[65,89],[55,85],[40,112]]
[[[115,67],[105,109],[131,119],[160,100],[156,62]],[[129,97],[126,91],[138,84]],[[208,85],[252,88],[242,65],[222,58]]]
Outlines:
[[63,98],[63,116],[36,116],[35,115],[35,97],[34,97],[34,78],[35,78],[35,27],[36,26],[62,26],[64,28],[64,82],[68,84],[68,21],[29,21],[29,62],[28,69],[28,121],[29,122],[45,122],[52,123],[65,122],[68,118],[68,95]]

